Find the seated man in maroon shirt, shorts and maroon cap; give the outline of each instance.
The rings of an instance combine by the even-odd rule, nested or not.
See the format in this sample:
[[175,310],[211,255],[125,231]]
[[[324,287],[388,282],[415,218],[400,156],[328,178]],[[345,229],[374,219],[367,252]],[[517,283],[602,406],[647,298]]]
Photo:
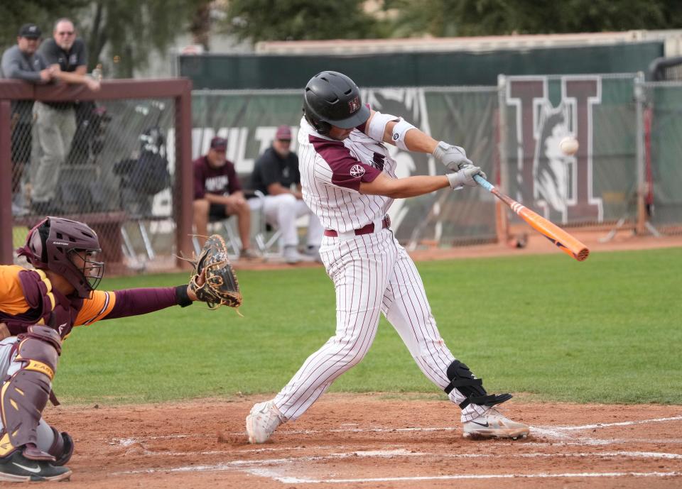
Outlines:
[[212,138],[208,153],[193,161],[194,225],[200,245],[208,236],[209,221],[237,216],[242,250],[239,258],[254,260],[259,254],[251,249],[251,209],[242,192],[234,163],[225,158],[227,139]]

